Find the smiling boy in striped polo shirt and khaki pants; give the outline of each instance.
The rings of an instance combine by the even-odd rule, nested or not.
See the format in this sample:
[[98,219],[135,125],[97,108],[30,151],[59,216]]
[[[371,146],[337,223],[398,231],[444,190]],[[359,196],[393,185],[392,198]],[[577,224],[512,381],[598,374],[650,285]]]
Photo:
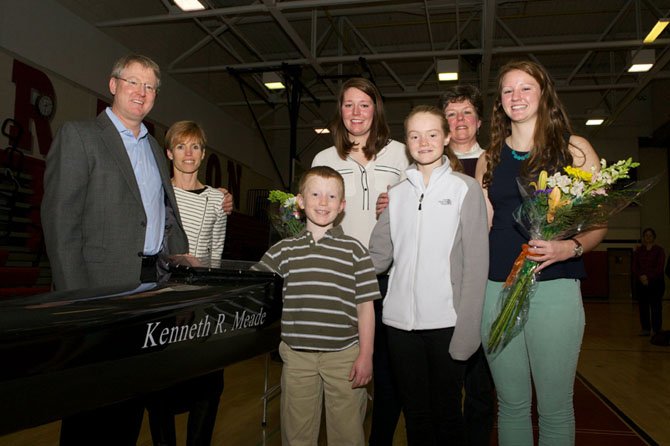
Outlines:
[[379,288],[370,255],[334,222],[344,180],[326,166],[300,181],[305,230],[272,246],[256,269],[284,278],[279,353],[284,445],[315,445],[325,391],[329,444],[363,445]]

